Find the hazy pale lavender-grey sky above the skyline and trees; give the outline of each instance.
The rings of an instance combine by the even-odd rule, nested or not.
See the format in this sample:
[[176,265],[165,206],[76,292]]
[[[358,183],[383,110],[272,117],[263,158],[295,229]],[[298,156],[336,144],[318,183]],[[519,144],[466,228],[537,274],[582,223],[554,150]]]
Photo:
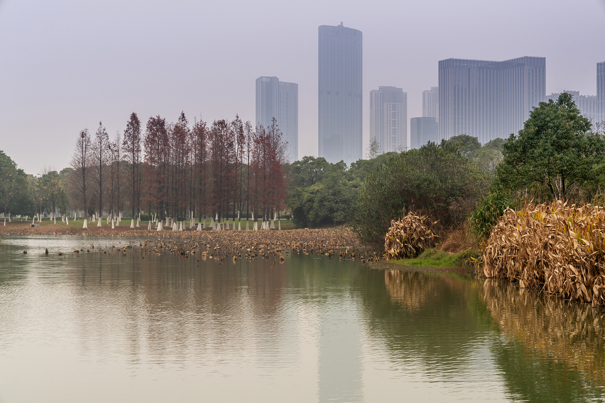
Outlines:
[[298,83],[299,157],[316,155],[318,26],[341,21],[364,34],[364,153],[369,91],[403,88],[409,126],[438,60],[543,56],[547,94],[590,95],[605,61],[605,0],[0,0],[0,149],[38,173],[132,111],[253,122],[255,79],[277,76]]

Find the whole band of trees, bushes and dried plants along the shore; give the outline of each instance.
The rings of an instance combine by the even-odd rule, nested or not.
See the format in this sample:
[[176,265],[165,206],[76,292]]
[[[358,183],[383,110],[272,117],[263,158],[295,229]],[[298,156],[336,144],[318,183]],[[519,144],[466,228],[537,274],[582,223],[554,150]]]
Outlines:
[[190,124],[181,113],[143,127],[133,113],[112,141],[102,124],[80,132],[60,172],[36,178],[1,153],[0,233],[136,235],[156,248],[178,238],[190,254],[200,241],[238,256],[272,245],[373,268],[475,270],[601,306],[604,126],[561,94],[507,139],[458,135],[390,153],[372,141],[347,166],[289,163],[275,121]]

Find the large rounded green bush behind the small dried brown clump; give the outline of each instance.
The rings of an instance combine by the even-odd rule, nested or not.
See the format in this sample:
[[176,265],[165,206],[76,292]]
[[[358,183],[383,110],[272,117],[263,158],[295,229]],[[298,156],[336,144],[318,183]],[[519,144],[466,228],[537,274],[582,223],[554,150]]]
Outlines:
[[[391,156],[362,186],[348,220],[362,243],[382,246],[391,220],[413,210],[449,227],[452,211],[487,193],[489,174],[452,144],[428,143]],[[453,202],[459,207],[450,210]],[[462,207],[460,207],[462,206]],[[438,228],[435,228],[438,230]]]

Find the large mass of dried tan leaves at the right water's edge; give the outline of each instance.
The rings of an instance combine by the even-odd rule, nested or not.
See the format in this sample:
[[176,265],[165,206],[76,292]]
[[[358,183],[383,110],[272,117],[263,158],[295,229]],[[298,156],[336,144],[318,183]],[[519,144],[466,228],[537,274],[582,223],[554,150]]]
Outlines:
[[605,211],[557,201],[506,210],[483,250],[483,273],[605,305]]

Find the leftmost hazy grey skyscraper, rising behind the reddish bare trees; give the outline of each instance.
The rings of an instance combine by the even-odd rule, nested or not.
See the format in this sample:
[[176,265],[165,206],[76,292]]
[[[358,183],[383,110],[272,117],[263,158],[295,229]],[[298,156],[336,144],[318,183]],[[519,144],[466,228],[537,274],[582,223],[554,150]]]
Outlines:
[[298,84],[258,77],[256,124],[266,128],[274,117],[288,142],[289,161],[298,160]]

